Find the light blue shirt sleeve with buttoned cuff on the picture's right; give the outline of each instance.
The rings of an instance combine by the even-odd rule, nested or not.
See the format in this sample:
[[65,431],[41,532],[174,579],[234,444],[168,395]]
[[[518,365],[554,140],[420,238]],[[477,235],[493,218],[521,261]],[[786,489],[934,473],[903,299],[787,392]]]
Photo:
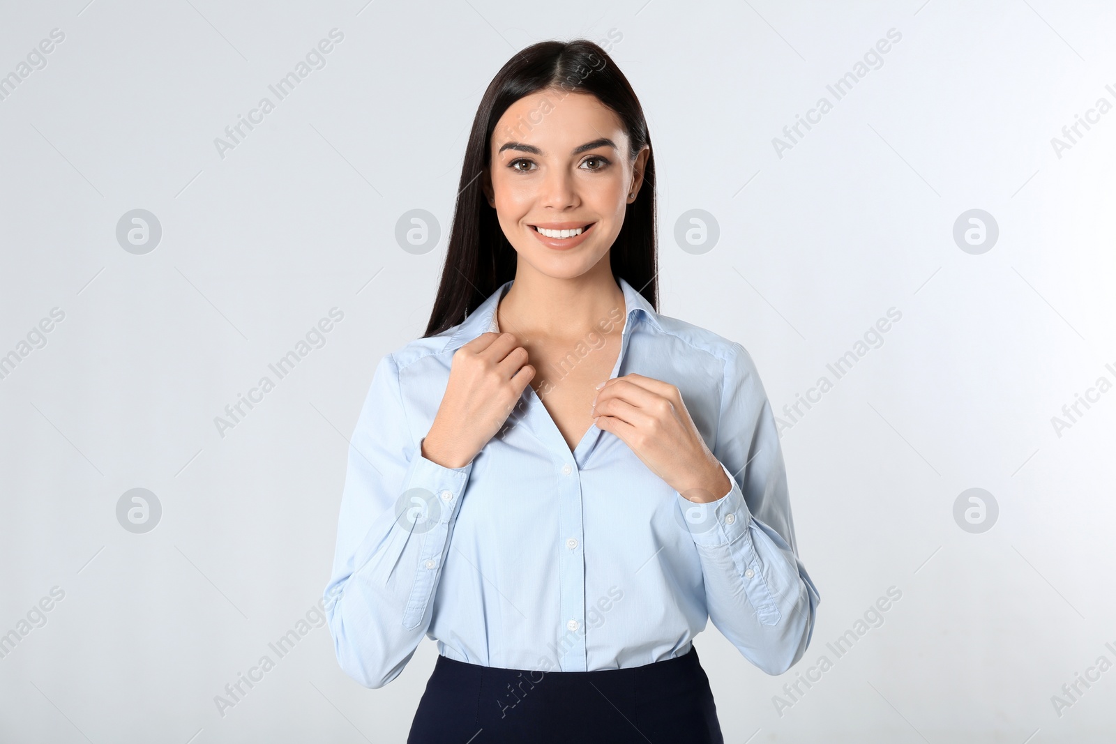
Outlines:
[[729,493],[708,503],[677,495],[701,558],[710,619],[748,660],[782,674],[809,646],[820,596],[795,548],[775,417],[739,344],[725,363],[712,452]]

